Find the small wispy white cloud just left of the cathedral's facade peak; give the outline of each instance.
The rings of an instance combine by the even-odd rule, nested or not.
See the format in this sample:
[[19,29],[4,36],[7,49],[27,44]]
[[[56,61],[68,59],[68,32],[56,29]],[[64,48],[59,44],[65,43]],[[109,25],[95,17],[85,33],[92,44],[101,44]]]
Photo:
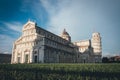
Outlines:
[[22,31],[22,26],[23,25],[19,22],[11,22],[11,23],[4,22],[3,24],[5,26],[7,26],[9,29],[14,30],[16,32],[21,32]]

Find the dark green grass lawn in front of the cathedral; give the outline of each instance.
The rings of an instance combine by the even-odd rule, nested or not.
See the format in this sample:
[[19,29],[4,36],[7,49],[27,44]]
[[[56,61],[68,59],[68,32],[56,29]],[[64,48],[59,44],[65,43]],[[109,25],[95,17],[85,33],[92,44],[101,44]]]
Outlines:
[[0,80],[120,80],[120,64],[0,64]]

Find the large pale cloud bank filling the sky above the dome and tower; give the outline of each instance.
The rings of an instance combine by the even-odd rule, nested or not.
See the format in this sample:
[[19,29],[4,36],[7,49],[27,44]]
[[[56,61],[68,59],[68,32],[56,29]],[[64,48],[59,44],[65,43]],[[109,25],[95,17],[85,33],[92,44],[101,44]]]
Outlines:
[[[113,52],[119,50],[119,45],[116,48],[111,46],[112,43],[116,43],[115,40],[119,40],[116,38],[119,26],[114,25],[112,20],[112,17],[115,17],[112,13],[116,9],[114,2],[96,0],[40,1],[49,14],[47,30],[59,35],[66,28],[72,41],[90,39],[92,32],[97,31],[102,36],[102,48],[105,52],[103,55],[115,55],[116,53]],[[111,5],[114,6],[111,7]],[[111,40],[112,42],[109,43]],[[117,44],[114,45],[117,46]]]

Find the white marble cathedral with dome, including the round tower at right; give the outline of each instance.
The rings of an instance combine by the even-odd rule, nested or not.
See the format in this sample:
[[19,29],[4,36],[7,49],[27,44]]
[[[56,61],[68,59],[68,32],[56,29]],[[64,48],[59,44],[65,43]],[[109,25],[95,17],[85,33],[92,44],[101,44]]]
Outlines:
[[95,63],[101,62],[101,56],[98,32],[90,40],[71,42],[65,29],[58,36],[28,21],[13,44],[11,63]]

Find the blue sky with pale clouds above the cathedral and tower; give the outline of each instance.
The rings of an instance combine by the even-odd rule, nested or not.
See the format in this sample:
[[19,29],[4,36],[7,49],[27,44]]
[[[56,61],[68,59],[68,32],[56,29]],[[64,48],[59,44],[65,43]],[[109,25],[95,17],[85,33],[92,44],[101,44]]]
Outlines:
[[103,55],[120,55],[120,0],[0,0],[0,52],[12,51],[31,19],[57,35],[64,28],[72,41],[100,32]]

